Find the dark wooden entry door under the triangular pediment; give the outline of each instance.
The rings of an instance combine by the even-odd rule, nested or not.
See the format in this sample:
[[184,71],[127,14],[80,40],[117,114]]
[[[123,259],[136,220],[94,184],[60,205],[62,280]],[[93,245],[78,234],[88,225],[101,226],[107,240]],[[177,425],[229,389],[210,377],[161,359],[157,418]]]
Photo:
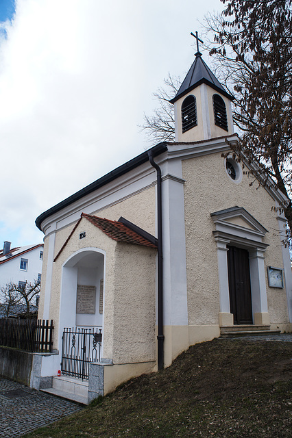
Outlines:
[[234,324],[252,324],[252,294],[248,251],[228,246],[230,312]]

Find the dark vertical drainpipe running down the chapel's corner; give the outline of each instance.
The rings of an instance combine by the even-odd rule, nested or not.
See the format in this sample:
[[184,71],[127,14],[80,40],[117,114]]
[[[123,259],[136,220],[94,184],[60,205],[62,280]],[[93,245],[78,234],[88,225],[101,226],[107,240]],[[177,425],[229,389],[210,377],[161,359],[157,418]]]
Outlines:
[[153,151],[148,151],[149,162],[157,172],[157,227],[158,227],[158,370],[164,368],[164,335],[163,335],[163,257],[162,257],[162,191],[161,169],[154,162]]

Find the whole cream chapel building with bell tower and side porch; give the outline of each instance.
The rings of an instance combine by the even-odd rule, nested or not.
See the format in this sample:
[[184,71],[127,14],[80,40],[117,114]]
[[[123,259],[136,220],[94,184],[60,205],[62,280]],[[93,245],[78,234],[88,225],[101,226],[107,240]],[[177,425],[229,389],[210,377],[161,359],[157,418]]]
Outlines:
[[251,186],[236,162],[232,99],[197,52],[171,101],[175,142],[36,219],[45,233],[38,317],[53,319],[56,349],[40,382],[66,375],[69,328],[99,334],[88,400],[228,330],[292,330],[286,220],[274,208],[287,199],[272,183]]

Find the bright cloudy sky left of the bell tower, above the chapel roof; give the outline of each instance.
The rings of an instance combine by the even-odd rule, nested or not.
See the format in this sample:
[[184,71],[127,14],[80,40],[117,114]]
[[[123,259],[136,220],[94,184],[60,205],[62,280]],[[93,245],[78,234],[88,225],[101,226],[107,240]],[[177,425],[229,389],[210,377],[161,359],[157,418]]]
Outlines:
[[[0,248],[149,147],[144,114],[220,0],[0,0]],[[203,53],[212,69],[212,60]]]

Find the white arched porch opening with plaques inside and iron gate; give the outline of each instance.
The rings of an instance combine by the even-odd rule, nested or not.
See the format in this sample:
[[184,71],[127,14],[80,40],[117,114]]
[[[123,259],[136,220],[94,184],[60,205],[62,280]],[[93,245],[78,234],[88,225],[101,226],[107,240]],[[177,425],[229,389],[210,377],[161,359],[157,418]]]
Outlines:
[[62,374],[88,378],[88,364],[101,357],[104,325],[105,253],[83,248],[62,266],[60,346]]

